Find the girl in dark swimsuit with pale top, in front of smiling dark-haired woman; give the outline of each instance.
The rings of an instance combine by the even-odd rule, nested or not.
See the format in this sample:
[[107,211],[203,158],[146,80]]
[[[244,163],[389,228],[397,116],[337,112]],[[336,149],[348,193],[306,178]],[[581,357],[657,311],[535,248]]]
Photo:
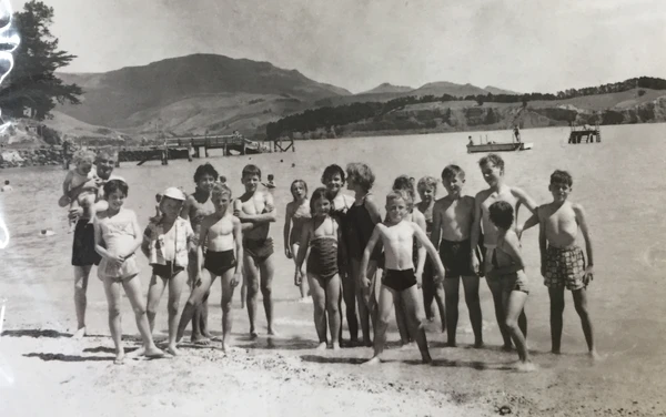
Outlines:
[[337,274],[337,246],[342,244],[342,232],[334,217],[331,217],[331,200],[326,189],[312,193],[310,211],[313,217],[306,220],[301,233],[301,244],[296,256],[296,274],[303,275],[303,261],[307,256],[307,281],[314,302],[314,326],[319,336],[317,349],[326,348],[326,314],[331,328],[331,347],[340,349],[340,275]]

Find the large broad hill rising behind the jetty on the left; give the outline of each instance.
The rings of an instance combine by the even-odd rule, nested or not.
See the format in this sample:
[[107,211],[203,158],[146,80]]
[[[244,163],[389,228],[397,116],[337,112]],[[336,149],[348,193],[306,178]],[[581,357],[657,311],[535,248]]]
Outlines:
[[[222,96],[226,101],[233,100],[234,95],[250,94],[255,96],[254,100],[304,103],[351,94],[344,89],[310,80],[296,70],[215,54],[167,59],[105,73],[60,73],[59,77],[84,90],[81,105],[61,105],[59,111],[85,123],[130,130],[159,123],[159,120],[141,115],[159,114],[161,109],[196,98],[210,103],[211,96]],[[282,105],[278,108],[272,111],[281,115]],[[221,120],[200,119],[200,122],[201,128],[206,129]]]

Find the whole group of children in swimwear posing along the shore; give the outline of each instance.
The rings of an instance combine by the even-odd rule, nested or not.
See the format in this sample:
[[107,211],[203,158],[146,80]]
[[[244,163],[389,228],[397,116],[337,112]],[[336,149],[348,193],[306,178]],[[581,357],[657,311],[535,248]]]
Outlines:
[[[456,165],[448,165],[442,172],[447,195],[440,200],[435,200],[436,179],[426,176],[416,183],[408,176],[398,176],[385,199],[384,218],[379,200],[371,193],[375,177],[366,164],[351,163],[346,170],[327,166],[321,180],[324,186],[314,190],[311,196],[303,180],[291,184],[293,201],[285,210],[284,252],[294,260],[294,284],[301,297],[312,296],[320,348],[326,348],[329,342],[331,348],[340,348],[344,302],[349,344],[374,345],[369,364],[380,362],[392,311],[402,342],[416,342],[423,362],[430,363],[423,306],[426,318],[433,321],[432,304],[436,302],[442,330],[447,333],[448,345],[455,346],[461,279],[474,346],[482,347],[478,287],[480,277],[485,276],[504,347],[511,349],[515,345],[519,356],[517,367],[533,369],[525,343],[524,304],[529,285],[519,236],[538,224],[542,275],[551,297],[552,350],[559,353],[566,287],[573,292],[589,353],[597,356],[586,302],[586,287],[593,277],[592,244],[584,210],[567,201],[573,185],[571,175],[556,171],[549,184],[553,202],[537,206],[525,192],[504,183],[504,162],[498,155],[483,157],[480,167],[490,187],[475,197],[463,195],[465,173]],[[82,160],[73,171],[63,184],[67,197],[61,199],[61,204],[94,205],[87,201],[88,196],[77,194],[77,186],[80,190],[81,184],[94,181],[88,161]],[[240,283],[251,337],[256,337],[254,322],[260,289],[268,333],[275,334],[273,240],[269,235],[270,223],[276,221],[274,181],[270,179],[270,185],[263,184],[268,191],[260,190],[261,170],[246,165],[242,171],[245,191],[232,200],[231,190],[219,179],[214,167],[206,163],[194,174],[194,193],[185,195],[175,187],[165,190],[158,195],[155,216],[143,232],[134,213],[123,207],[128,184],[121,179],[103,184],[108,206],[98,210],[92,218],[95,251],[102,256],[98,275],[104,282],[118,363],[124,357],[120,340],[121,286],[132,304],[144,342],[138,354],[163,355],[151,333],[165,287],[169,287],[168,352],[178,355],[176,345],[189,322],[192,322],[192,340],[206,343],[210,337],[206,301],[218,277],[222,282],[224,350],[229,348],[232,324],[231,301]],[[345,184],[353,196],[343,192]],[[421,197],[417,204],[416,193]],[[533,214],[523,224],[517,222],[521,205]],[[576,246],[578,228],[585,238],[587,263]],[[137,277],[134,253],[139,248],[152,266],[148,303],[142,299]],[[185,283],[191,294],[179,316]],[[422,286],[423,303],[418,294]],[[359,321],[362,340],[359,340]]]

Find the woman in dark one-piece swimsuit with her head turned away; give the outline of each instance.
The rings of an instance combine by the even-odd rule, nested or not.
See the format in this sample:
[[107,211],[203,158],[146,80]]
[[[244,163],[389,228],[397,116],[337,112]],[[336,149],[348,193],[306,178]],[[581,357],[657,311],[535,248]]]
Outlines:
[[[377,271],[377,261],[381,258],[381,247],[377,247],[367,263],[367,271],[361,271],[361,260],[363,250],[370,241],[374,226],[382,221],[380,208],[374,196],[370,193],[374,184],[375,176],[370,166],[364,163],[351,163],[346,166],[347,190],[354,192],[354,204],[347,210],[345,216],[345,245],[349,252],[351,279],[356,285],[356,298],[359,301],[359,315],[361,316],[361,330],[363,333],[363,344],[372,346],[370,337],[370,322],[376,318],[374,309],[376,305],[377,284],[375,273]],[[360,277],[370,276],[371,286],[361,287]]]

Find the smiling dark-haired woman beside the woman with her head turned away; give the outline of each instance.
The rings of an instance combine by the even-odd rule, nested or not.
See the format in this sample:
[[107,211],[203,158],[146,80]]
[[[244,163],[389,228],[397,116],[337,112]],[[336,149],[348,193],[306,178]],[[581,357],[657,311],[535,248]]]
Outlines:
[[[331,201],[331,216],[337,221],[343,233],[343,241],[346,242],[345,221],[347,210],[354,204],[354,197],[342,192],[345,183],[345,173],[340,165],[329,165],[322,175],[322,184],[326,186],[326,192]],[[345,317],[350,330],[350,345],[359,344],[359,318],[356,317],[356,285],[349,274],[349,262],[346,254],[337,251],[337,268],[340,281],[342,282],[342,298],[344,299]],[[339,304],[340,305],[340,304]],[[342,308],[341,308],[342,313]],[[342,317],[341,317],[342,323]],[[340,340],[342,340],[342,325],[340,326]]]

